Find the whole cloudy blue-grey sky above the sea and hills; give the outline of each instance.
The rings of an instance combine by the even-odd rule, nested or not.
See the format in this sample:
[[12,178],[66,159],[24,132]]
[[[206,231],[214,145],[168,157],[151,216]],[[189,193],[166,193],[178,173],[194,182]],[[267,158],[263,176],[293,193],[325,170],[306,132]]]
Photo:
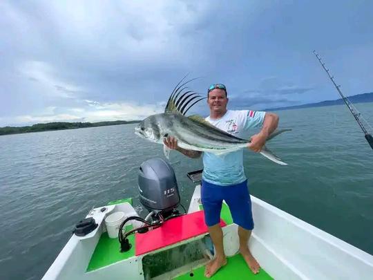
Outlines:
[[[373,91],[373,1],[0,1],[0,127],[140,120],[176,84],[229,109]],[[189,111],[207,115],[202,100]]]

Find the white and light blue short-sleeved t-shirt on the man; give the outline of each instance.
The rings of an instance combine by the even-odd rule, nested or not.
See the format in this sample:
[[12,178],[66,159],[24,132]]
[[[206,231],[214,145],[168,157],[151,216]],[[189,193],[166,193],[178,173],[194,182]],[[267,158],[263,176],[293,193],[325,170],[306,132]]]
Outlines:
[[[249,129],[260,127],[263,124],[265,112],[262,111],[231,111],[228,110],[222,118],[206,120],[213,126],[227,131],[233,136],[242,139],[249,139]],[[208,183],[229,186],[242,183],[246,180],[243,167],[243,149],[216,155],[214,153],[203,153],[203,180]]]

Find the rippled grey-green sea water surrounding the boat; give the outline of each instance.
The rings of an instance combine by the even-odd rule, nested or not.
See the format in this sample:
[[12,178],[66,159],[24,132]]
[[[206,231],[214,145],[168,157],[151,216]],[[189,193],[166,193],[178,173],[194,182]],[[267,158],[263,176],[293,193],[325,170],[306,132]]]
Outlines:
[[[356,107],[373,124],[373,104]],[[277,113],[280,127],[292,131],[268,147],[289,165],[245,151],[251,194],[373,254],[373,150],[350,112]],[[163,154],[134,127],[0,137],[0,279],[40,279],[92,207],[130,196],[138,203],[138,167]],[[202,162],[171,152],[171,164],[187,207],[194,186],[186,173]]]

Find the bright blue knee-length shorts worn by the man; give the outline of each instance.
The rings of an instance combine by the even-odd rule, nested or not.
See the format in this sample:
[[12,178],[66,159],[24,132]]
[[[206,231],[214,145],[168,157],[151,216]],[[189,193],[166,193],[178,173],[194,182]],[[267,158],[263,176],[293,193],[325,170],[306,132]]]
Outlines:
[[220,222],[222,200],[225,200],[231,210],[233,222],[245,230],[254,229],[247,180],[231,186],[215,185],[202,180],[201,200],[207,226],[211,227]]

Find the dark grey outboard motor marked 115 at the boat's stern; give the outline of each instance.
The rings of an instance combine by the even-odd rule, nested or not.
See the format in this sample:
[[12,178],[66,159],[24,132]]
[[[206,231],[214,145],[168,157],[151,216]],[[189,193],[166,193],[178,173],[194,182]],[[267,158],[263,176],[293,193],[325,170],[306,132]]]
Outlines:
[[138,184],[140,203],[149,212],[159,210],[164,214],[170,214],[178,207],[180,194],[175,172],[164,160],[155,158],[143,162],[140,166]]

